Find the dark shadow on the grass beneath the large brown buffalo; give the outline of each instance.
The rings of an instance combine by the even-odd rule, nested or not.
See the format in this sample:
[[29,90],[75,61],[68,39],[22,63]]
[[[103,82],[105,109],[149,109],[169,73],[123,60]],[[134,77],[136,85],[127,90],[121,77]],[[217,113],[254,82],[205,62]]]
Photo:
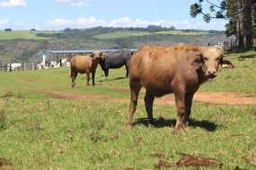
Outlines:
[[[155,128],[163,128],[163,127],[174,127],[176,123],[175,119],[154,119],[154,127]],[[133,125],[137,124],[144,124],[145,126],[148,126],[147,118],[139,118],[137,119]],[[214,132],[216,131],[217,124],[209,121],[199,121],[199,120],[193,120],[190,119],[190,127],[199,127],[205,129],[207,132]]]

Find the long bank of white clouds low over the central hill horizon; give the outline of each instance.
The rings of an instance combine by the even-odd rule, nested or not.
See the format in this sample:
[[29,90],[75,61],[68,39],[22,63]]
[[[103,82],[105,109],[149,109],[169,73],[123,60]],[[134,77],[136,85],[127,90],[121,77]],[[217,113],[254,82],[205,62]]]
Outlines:
[[[60,1],[60,0],[58,0]],[[67,1],[67,0],[65,0]],[[56,19],[47,21],[41,28],[49,30],[64,30],[65,28],[71,29],[86,29],[97,26],[102,27],[144,27],[148,25],[161,25],[162,27],[170,28],[174,26],[176,29],[195,29],[195,30],[225,30],[225,21],[211,21],[206,23],[204,21],[147,21],[142,19],[130,19],[128,16],[114,19],[112,21],[104,21],[96,17],[78,18],[74,21],[66,19]],[[39,26],[37,26],[39,27]],[[46,27],[46,28],[45,28]]]

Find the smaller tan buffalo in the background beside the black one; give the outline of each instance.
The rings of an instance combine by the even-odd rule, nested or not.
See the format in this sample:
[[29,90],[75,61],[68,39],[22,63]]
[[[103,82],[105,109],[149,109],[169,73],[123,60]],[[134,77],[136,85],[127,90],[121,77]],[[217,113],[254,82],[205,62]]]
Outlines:
[[100,62],[102,56],[102,52],[95,51],[91,55],[75,55],[70,60],[70,70],[71,74],[70,77],[72,79],[72,88],[75,88],[75,78],[80,73],[86,73],[87,75],[87,83],[86,85],[89,86],[90,81],[90,72],[92,72],[93,77],[93,86],[95,85],[94,77],[96,68]]

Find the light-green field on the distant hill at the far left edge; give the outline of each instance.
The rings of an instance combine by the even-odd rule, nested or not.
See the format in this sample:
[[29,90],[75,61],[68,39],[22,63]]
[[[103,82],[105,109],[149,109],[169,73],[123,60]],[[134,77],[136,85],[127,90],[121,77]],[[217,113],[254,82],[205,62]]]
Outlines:
[[29,31],[29,30],[12,30],[4,31],[0,30],[0,40],[2,39],[49,39],[44,37],[38,37],[36,34],[40,31]]

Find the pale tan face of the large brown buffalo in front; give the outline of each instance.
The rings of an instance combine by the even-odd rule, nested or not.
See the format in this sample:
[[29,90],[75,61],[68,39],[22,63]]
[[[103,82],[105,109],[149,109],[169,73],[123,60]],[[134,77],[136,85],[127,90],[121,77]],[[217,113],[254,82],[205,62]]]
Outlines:
[[200,47],[200,63],[207,78],[215,78],[219,64],[223,63],[224,51],[217,47]]

